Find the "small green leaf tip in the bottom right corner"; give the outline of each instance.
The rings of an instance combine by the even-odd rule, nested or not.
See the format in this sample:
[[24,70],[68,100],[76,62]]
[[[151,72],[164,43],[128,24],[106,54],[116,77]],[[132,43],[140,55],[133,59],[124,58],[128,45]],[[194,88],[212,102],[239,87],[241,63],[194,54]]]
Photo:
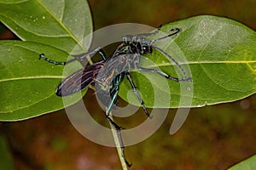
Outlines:
[[256,169],[256,156],[252,156],[245,161],[241,161],[229,170],[254,170]]

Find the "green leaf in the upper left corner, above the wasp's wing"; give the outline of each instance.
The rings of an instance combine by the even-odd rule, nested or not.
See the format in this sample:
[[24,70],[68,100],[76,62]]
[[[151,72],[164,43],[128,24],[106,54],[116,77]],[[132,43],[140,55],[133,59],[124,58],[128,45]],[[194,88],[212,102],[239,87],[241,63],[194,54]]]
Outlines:
[[85,0],[0,0],[0,8],[0,20],[22,40],[41,42],[73,54],[90,46],[91,37],[81,42],[92,31],[90,8]]

